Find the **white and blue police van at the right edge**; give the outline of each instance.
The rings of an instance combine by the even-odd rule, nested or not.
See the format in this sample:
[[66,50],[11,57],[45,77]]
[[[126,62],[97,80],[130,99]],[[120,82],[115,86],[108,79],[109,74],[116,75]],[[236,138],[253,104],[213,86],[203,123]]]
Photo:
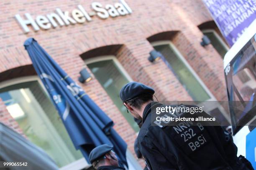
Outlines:
[[224,57],[233,140],[256,169],[256,20]]

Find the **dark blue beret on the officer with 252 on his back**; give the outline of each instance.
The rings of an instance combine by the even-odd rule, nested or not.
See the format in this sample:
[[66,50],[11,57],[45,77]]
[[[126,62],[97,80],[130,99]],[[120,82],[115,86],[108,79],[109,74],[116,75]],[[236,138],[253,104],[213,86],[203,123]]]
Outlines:
[[151,87],[143,85],[140,82],[129,82],[121,88],[120,98],[123,102],[125,102],[126,100],[132,99],[144,93],[153,95],[155,90]]

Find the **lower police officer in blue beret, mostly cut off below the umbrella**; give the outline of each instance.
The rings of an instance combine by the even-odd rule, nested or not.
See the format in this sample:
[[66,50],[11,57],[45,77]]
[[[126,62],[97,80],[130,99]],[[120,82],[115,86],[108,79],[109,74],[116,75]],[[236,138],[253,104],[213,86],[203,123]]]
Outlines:
[[112,151],[113,145],[104,144],[94,148],[89,160],[96,170],[125,170],[125,168],[118,166],[118,158]]

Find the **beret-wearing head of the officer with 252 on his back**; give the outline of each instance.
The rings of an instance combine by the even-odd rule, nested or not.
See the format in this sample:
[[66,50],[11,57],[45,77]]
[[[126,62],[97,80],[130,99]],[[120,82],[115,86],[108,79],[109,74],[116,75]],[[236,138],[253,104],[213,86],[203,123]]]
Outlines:
[[133,117],[142,119],[144,107],[153,101],[154,89],[139,82],[129,82],[120,90],[120,98]]

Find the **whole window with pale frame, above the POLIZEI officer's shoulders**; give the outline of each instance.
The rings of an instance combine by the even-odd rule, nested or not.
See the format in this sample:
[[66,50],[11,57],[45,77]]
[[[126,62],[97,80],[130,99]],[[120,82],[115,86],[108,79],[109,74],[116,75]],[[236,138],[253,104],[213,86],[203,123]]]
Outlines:
[[[151,42],[154,49],[161,52],[172,68],[172,72],[176,75],[179,82],[187,90],[194,101],[198,101],[198,106],[203,106],[204,111],[212,116],[218,117],[220,122],[225,122],[227,125],[228,114],[223,107],[216,102],[215,97],[200,79],[197,73],[192,69],[187,60],[177,50],[175,45],[169,41]],[[212,102],[207,102],[212,101]]]

